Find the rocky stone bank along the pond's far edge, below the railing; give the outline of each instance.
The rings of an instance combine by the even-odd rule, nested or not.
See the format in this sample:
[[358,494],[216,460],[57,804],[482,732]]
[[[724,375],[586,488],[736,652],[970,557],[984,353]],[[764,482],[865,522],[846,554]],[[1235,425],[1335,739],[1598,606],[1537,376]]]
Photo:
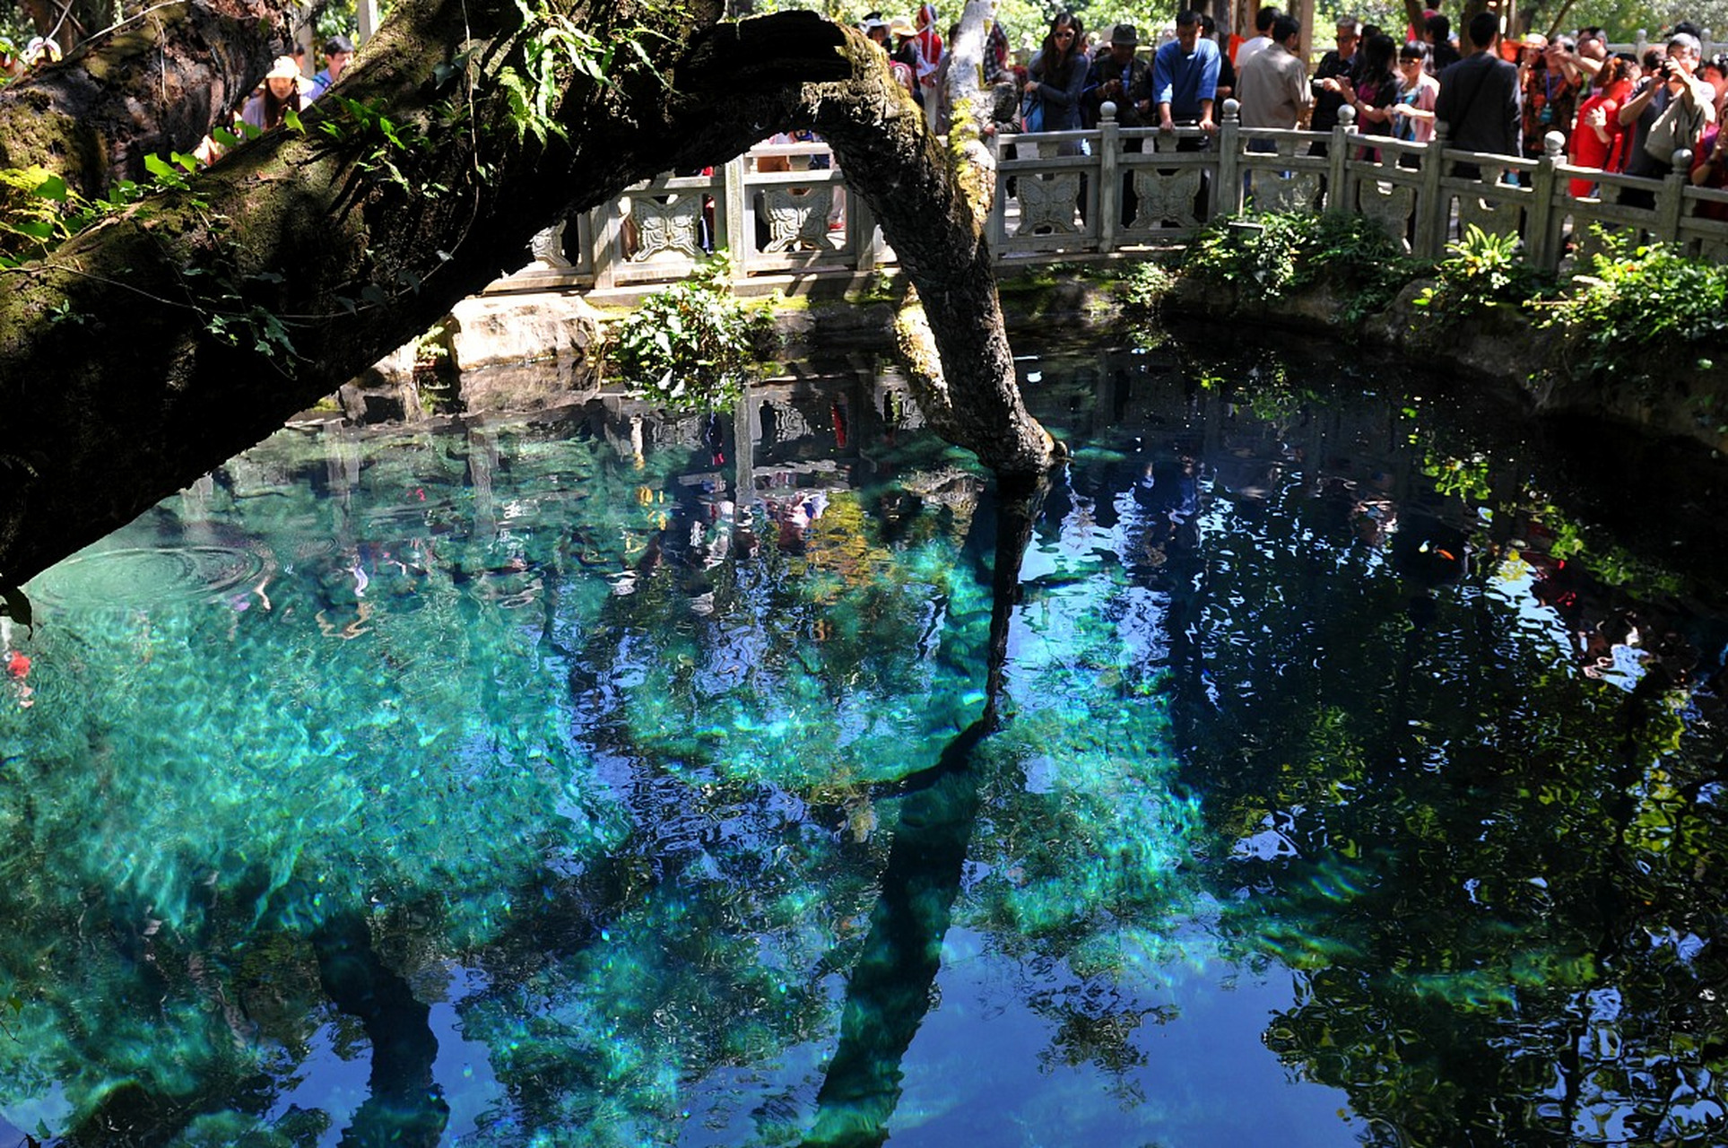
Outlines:
[[[857,290],[842,287],[829,297],[776,297],[783,356],[797,361],[812,353],[886,354],[893,346],[893,304],[881,285],[871,277],[871,284],[855,285]],[[1436,322],[1415,306],[1424,285],[1407,285],[1365,316],[1350,316],[1350,296],[1324,282],[1260,299],[1230,284],[1184,275],[1173,277],[1154,315],[1130,313],[1121,303],[1121,280],[1092,268],[1007,275],[1001,296],[1011,335],[1120,332],[1135,320],[1154,320],[1223,323],[1286,339],[1320,337],[1391,351],[1429,373],[1503,387],[1531,415],[1583,415],[1655,437],[1690,439],[1718,455],[1728,450],[1728,363],[1709,368],[1673,363],[1673,373],[1662,379],[1607,384],[1579,379],[1567,370],[1574,348],[1559,332],[1541,328],[1528,311],[1496,306]],[[586,401],[605,386],[598,368],[605,327],[626,315],[631,303],[615,297],[596,304],[577,292],[465,299],[418,344],[385,358],[297,422],[416,422],[430,406],[423,389],[434,379],[454,386],[470,415],[534,413]]]

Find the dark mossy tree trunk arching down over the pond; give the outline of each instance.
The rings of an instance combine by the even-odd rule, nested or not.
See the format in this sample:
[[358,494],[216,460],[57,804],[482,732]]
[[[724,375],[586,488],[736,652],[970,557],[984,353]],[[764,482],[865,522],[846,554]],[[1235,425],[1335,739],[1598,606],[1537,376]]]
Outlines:
[[[1045,465],[978,220],[876,48],[809,12],[715,24],[703,3],[581,0],[524,26],[513,0],[408,0],[304,133],[0,271],[0,586],[257,443],[556,218],[805,124],[835,140],[930,308],[964,411],[945,429],[1001,470]],[[608,28],[634,29],[638,64],[536,85],[541,48]]]

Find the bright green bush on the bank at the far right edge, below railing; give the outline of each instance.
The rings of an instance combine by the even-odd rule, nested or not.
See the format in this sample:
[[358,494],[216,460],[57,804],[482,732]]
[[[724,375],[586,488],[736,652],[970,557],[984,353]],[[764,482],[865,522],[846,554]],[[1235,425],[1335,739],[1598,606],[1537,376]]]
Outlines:
[[1700,263],[1669,246],[1635,247],[1597,228],[1602,244],[1581,289],[1547,309],[1581,358],[1581,379],[1671,377],[1707,368],[1728,332],[1728,266]]

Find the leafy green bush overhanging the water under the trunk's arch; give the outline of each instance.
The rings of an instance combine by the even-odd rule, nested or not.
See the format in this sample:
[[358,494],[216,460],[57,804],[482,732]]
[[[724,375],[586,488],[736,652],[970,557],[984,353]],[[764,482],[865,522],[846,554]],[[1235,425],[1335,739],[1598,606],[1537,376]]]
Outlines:
[[738,399],[769,315],[731,292],[731,261],[708,259],[658,290],[613,332],[610,358],[636,392],[667,410],[717,410]]

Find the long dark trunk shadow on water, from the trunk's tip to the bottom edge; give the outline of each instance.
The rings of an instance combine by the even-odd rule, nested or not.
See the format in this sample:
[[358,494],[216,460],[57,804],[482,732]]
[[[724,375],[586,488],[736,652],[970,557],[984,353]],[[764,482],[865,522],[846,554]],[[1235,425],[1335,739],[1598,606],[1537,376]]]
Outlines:
[[995,494],[994,515],[975,519],[978,526],[994,526],[995,534],[983,712],[942,749],[937,764],[905,776],[897,787],[907,797],[881,871],[869,935],[852,966],[840,1046],[816,1094],[816,1120],[804,1141],[812,1148],[864,1148],[888,1139],[888,1122],[900,1100],[900,1062],[931,1006],[942,941],[978,821],[985,769],[980,750],[1001,726],[997,704],[1007,666],[1009,622],[1045,491],[1044,481],[1004,486]]

